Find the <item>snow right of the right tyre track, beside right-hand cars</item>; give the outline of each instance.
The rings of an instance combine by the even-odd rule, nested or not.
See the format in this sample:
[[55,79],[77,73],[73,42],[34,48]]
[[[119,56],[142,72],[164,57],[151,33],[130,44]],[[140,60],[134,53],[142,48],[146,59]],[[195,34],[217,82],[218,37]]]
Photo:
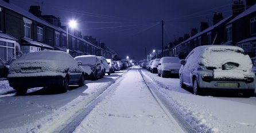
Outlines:
[[255,97],[196,96],[179,87],[179,79],[161,78],[142,71],[180,115],[198,132],[255,132]]

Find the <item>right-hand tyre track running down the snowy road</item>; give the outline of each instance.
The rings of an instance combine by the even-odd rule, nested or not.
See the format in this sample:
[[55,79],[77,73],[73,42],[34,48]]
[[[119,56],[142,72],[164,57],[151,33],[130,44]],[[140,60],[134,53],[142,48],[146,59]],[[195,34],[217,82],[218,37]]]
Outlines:
[[143,76],[141,69],[138,69],[138,71],[141,74],[142,79],[148,87],[150,93],[153,95],[154,99],[157,101],[157,103],[160,105],[160,107],[163,109],[169,119],[175,119],[176,122],[179,124],[178,126],[181,127],[184,132],[196,132],[193,127],[182,116],[180,116],[174,108],[172,108],[172,105],[169,103],[168,99],[166,99],[164,95],[158,92],[157,88],[154,87],[151,81]]

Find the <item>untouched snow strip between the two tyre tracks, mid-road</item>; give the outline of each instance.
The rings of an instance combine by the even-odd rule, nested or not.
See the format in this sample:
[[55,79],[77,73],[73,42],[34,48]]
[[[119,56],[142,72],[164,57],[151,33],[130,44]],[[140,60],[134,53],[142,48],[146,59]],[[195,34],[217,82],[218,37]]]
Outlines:
[[97,105],[74,132],[183,132],[170,120],[143,82],[138,69]]

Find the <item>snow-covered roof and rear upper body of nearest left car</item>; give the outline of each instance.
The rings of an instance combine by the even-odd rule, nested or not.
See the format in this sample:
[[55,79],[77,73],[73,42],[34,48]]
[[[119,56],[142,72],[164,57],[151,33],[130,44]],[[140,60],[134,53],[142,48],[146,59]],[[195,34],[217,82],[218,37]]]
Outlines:
[[77,62],[67,53],[42,51],[28,53],[11,62],[8,77],[65,76],[65,73],[80,73]]

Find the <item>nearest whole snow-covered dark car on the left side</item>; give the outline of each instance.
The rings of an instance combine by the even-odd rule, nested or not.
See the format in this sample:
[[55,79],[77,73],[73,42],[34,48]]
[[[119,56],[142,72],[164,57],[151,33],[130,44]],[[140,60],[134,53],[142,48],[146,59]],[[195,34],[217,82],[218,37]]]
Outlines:
[[70,54],[61,51],[41,51],[25,54],[10,64],[7,79],[17,95],[28,88],[53,86],[67,92],[69,84],[84,85],[84,72]]

